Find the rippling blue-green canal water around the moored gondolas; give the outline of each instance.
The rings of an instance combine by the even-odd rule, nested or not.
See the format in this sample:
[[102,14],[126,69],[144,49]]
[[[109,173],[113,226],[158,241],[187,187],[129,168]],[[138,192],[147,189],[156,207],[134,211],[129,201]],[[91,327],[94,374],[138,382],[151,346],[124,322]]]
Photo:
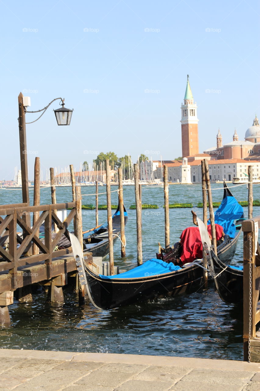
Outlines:
[[[231,187],[232,185],[229,184]],[[213,201],[221,201],[221,182],[212,185]],[[218,190],[218,188],[221,188]],[[105,187],[99,187],[105,193]],[[111,187],[116,190],[116,187]],[[246,186],[232,188],[239,201],[247,199]],[[94,187],[82,187],[83,204],[95,204]],[[260,185],[253,185],[254,198],[260,198]],[[71,188],[57,188],[57,202],[71,200]],[[33,198],[33,191],[30,191]],[[170,185],[170,203],[192,203],[202,217],[200,185]],[[21,190],[0,189],[0,204],[21,202]],[[41,203],[51,203],[50,188],[41,189]],[[106,204],[106,194],[99,196]],[[136,221],[134,187],[124,187],[124,203],[128,212],[126,224],[126,258],[120,257],[120,242],[114,246],[115,264],[121,269],[136,266]],[[142,203],[157,204],[158,209],[142,210],[143,260],[155,257],[158,242],[164,244],[163,188],[142,186]],[[117,192],[112,193],[117,204]],[[247,217],[247,208],[244,208]],[[253,215],[260,208],[253,208]],[[95,210],[83,210],[83,229],[95,226]],[[107,211],[99,211],[105,222]],[[170,237],[174,244],[182,230],[192,226],[191,209],[170,209]],[[233,264],[242,263],[240,235]],[[34,302],[9,306],[12,325],[0,329],[0,348],[64,350],[71,352],[131,353],[242,360],[242,305],[228,306],[220,300],[213,285],[206,291],[156,302],[101,311],[90,303],[79,306],[76,294],[65,291],[65,304],[55,308],[46,303],[46,294],[34,293]],[[160,359],[158,359],[160,364]]]

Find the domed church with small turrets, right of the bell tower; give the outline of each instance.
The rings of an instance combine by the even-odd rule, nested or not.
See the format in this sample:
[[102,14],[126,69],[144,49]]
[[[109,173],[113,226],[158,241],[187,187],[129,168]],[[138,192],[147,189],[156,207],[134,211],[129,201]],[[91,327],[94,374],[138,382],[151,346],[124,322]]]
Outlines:
[[260,160],[260,126],[258,118],[255,116],[253,125],[246,131],[245,140],[239,140],[235,130],[233,141],[222,145],[222,136],[219,130],[217,133],[217,147],[208,148],[204,153],[209,154],[210,158],[215,160]]

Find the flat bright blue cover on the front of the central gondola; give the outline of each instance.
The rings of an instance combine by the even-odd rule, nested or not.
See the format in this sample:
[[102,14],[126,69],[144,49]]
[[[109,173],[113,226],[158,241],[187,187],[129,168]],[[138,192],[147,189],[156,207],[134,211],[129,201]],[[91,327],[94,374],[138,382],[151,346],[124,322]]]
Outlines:
[[114,280],[114,278],[137,278],[137,277],[151,277],[157,276],[158,274],[169,273],[171,271],[179,270],[180,266],[175,266],[172,262],[167,264],[161,259],[150,259],[144,264],[135,267],[134,269],[128,270],[125,273],[115,274],[114,276],[99,276],[104,280]]

